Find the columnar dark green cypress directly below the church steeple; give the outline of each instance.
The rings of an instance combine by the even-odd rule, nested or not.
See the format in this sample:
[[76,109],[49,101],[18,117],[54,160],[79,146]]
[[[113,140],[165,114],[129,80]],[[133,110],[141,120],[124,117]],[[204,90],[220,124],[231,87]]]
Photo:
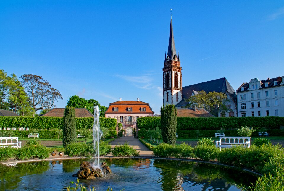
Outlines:
[[177,109],[174,105],[161,107],[161,132],[164,143],[175,145],[177,140]]

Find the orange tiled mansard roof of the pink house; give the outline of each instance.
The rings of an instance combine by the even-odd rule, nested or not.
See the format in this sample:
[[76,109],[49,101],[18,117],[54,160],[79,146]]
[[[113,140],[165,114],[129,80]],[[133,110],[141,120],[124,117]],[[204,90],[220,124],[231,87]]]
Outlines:
[[[118,111],[114,111],[114,107],[118,108]],[[128,111],[128,107],[132,108],[132,111]],[[141,108],[145,107],[146,111],[141,111]],[[149,103],[143,101],[116,101],[109,104],[107,113],[153,113]]]

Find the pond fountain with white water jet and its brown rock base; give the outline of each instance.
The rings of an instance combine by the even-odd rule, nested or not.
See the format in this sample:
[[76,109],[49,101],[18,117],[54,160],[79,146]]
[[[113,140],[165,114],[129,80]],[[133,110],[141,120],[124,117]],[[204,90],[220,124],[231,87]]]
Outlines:
[[94,179],[98,177],[102,177],[104,174],[110,174],[112,171],[106,163],[103,162],[100,165],[100,154],[99,154],[99,140],[103,135],[103,132],[100,129],[99,125],[99,106],[94,107],[94,125],[93,125],[93,144],[95,150],[95,157],[93,158],[93,162],[90,163],[88,161],[83,161],[80,165],[80,170],[77,172],[78,178],[83,179]]

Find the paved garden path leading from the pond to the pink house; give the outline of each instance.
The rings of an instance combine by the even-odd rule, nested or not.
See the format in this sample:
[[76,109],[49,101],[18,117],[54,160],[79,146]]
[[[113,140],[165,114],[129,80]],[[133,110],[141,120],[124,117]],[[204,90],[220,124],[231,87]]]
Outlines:
[[123,145],[125,142],[139,151],[140,156],[153,156],[153,151],[143,145],[139,139],[134,139],[133,137],[120,137],[119,139],[115,139],[114,141],[110,142],[110,145],[112,148],[114,148],[116,145]]

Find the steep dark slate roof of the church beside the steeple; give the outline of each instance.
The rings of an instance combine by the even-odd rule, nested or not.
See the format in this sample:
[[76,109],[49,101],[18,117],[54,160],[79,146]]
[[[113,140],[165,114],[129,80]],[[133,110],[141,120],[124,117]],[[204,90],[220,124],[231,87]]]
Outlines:
[[182,101],[180,101],[176,107],[186,106],[188,102],[185,101],[185,99],[188,99],[193,91],[205,91],[208,92],[222,92],[226,93],[226,90],[228,93],[235,99],[234,101],[237,101],[236,95],[234,95],[234,88],[231,86],[231,84],[228,82],[228,80],[223,77],[216,80],[211,80],[207,82],[202,82],[198,84],[188,85],[183,87],[183,98]]

